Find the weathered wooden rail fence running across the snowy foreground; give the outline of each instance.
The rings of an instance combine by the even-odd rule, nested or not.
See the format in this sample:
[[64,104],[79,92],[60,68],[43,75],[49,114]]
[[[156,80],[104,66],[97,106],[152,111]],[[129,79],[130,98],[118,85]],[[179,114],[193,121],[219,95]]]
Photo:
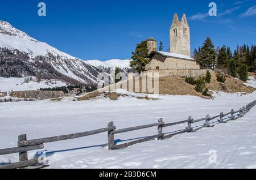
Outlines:
[[[59,142],[62,140],[76,139],[76,138],[81,138],[84,136],[100,134],[102,132],[108,132],[108,148],[109,148],[109,150],[122,149],[125,147],[129,147],[130,145],[147,142],[148,140],[152,140],[152,139],[156,139],[156,138],[158,140],[163,140],[163,139],[172,138],[172,136],[174,136],[174,135],[183,134],[185,132],[195,132],[195,131],[200,130],[200,128],[212,127],[210,122],[213,121],[214,119],[217,119],[218,123],[226,123],[228,121],[234,121],[238,118],[243,117],[243,115],[245,115],[247,112],[249,112],[250,109],[253,108],[253,106],[255,106],[255,105],[256,105],[256,101],[253,101],[253,102],[250,102],[248,105],[243,106],[240,110],[234,111],[232,109],[229,113],[224,114],[223,112],[221,112],[220,114],[218,114],[214,117],[210,117],[210,115],[207,115],[205,118],[194,120],[191,116],[189,116],[188,119],[186,119],[184,121],[173,122],[173,123],[164,123],[163,118],[160,118],[158,120],[158,123],[123,128],[123,129],[119,129],[119,130],[117,130],[116,127],[114,126],[114,122],[110,122],[110,123],[108,123],[108,127],[106,127],[106,128],[101,128],[101,129],[93,130],[93,131],[79,132],[76,134],[53,136],[53,137],[49,137],[49,138],[27,140],[27,135],[19,135],[18,136],[18,147],[0,149],[0,155],[19,153],[19,162],[6,164],[6,165],[0,165],[0,169],[25,168],[27,166],[39,164],[38,158],[28,160],[27,152],[33,151],[33,150],[38,150],[38,149],[43,149],[45,143]],[[202,121],[205,121],[205,123],[203,125],[201,125],[200,127],[197,127],[197,128],[192,127],[193,123],[198,123],[198,122],[202,122]],[[184,123],[187,123],[187,128],[185,128],[183,130],[179,130],[174,133],[167,133],[167,134],[164,134],[164,132],[163,132],[164,127],[176,126],[176,125],[181,125]],[[129,142],[129,143],[118,144],[118,145],[114,144],[114,134],[136,131],[136,130],[141,130],[141,129],[150,128],[150,127],[156,127],[156,126],[157,126],[157,133],[155,135],[148,136],[147,138],[135,140],[135,141]]]

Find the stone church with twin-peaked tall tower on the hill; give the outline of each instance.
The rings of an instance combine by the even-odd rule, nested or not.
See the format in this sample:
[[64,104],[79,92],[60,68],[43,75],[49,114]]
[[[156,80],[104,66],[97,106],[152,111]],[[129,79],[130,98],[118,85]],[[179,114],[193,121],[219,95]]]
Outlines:
[[167,76],[201,76],[195,59],[191,58],[190,28],[185,14],[179,21],[174,15],[170,28],[170,52],[160,52],[157,41],[150,37],[147,40],[150,63],[145,67],[146,72],[159,72],[160,77]]

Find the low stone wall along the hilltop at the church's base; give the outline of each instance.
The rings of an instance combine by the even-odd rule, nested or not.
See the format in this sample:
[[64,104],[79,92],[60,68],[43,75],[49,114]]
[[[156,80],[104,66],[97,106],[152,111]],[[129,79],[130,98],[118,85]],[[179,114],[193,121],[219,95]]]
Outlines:
[[[158,72],[159,78],[165,78],[165,77],[174,77],[174,76],[180,76],[180,77],[199,77],[204,76],[207,73],[207,70],[148,70],[148,72]],[[213,72],[210,70],[210,72]]]

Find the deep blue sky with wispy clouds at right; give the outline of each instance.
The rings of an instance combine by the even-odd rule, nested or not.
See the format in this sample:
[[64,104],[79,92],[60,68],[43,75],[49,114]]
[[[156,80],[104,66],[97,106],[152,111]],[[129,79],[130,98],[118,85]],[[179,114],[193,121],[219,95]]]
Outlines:
[[[38,3],[47,16],[38,16]],[[208,15],[209,2],[217,16]],[[0,2],[0,19],[81,59],[130,58],[138,42],[152,36],[169,48],[175,14],[185,13],[191,28],[191,49],[209,36],[214,45],[256,44],[256,0],[20,0]],[[159,43],[158,43],[159,44]]]

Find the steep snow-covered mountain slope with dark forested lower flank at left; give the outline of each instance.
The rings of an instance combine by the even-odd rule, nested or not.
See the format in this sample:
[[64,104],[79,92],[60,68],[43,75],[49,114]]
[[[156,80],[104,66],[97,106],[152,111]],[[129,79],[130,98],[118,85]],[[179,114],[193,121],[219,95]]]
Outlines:
[[97,67],[60,52],[0,21],[0,76],[39,76],[72,83],[97,84]]

